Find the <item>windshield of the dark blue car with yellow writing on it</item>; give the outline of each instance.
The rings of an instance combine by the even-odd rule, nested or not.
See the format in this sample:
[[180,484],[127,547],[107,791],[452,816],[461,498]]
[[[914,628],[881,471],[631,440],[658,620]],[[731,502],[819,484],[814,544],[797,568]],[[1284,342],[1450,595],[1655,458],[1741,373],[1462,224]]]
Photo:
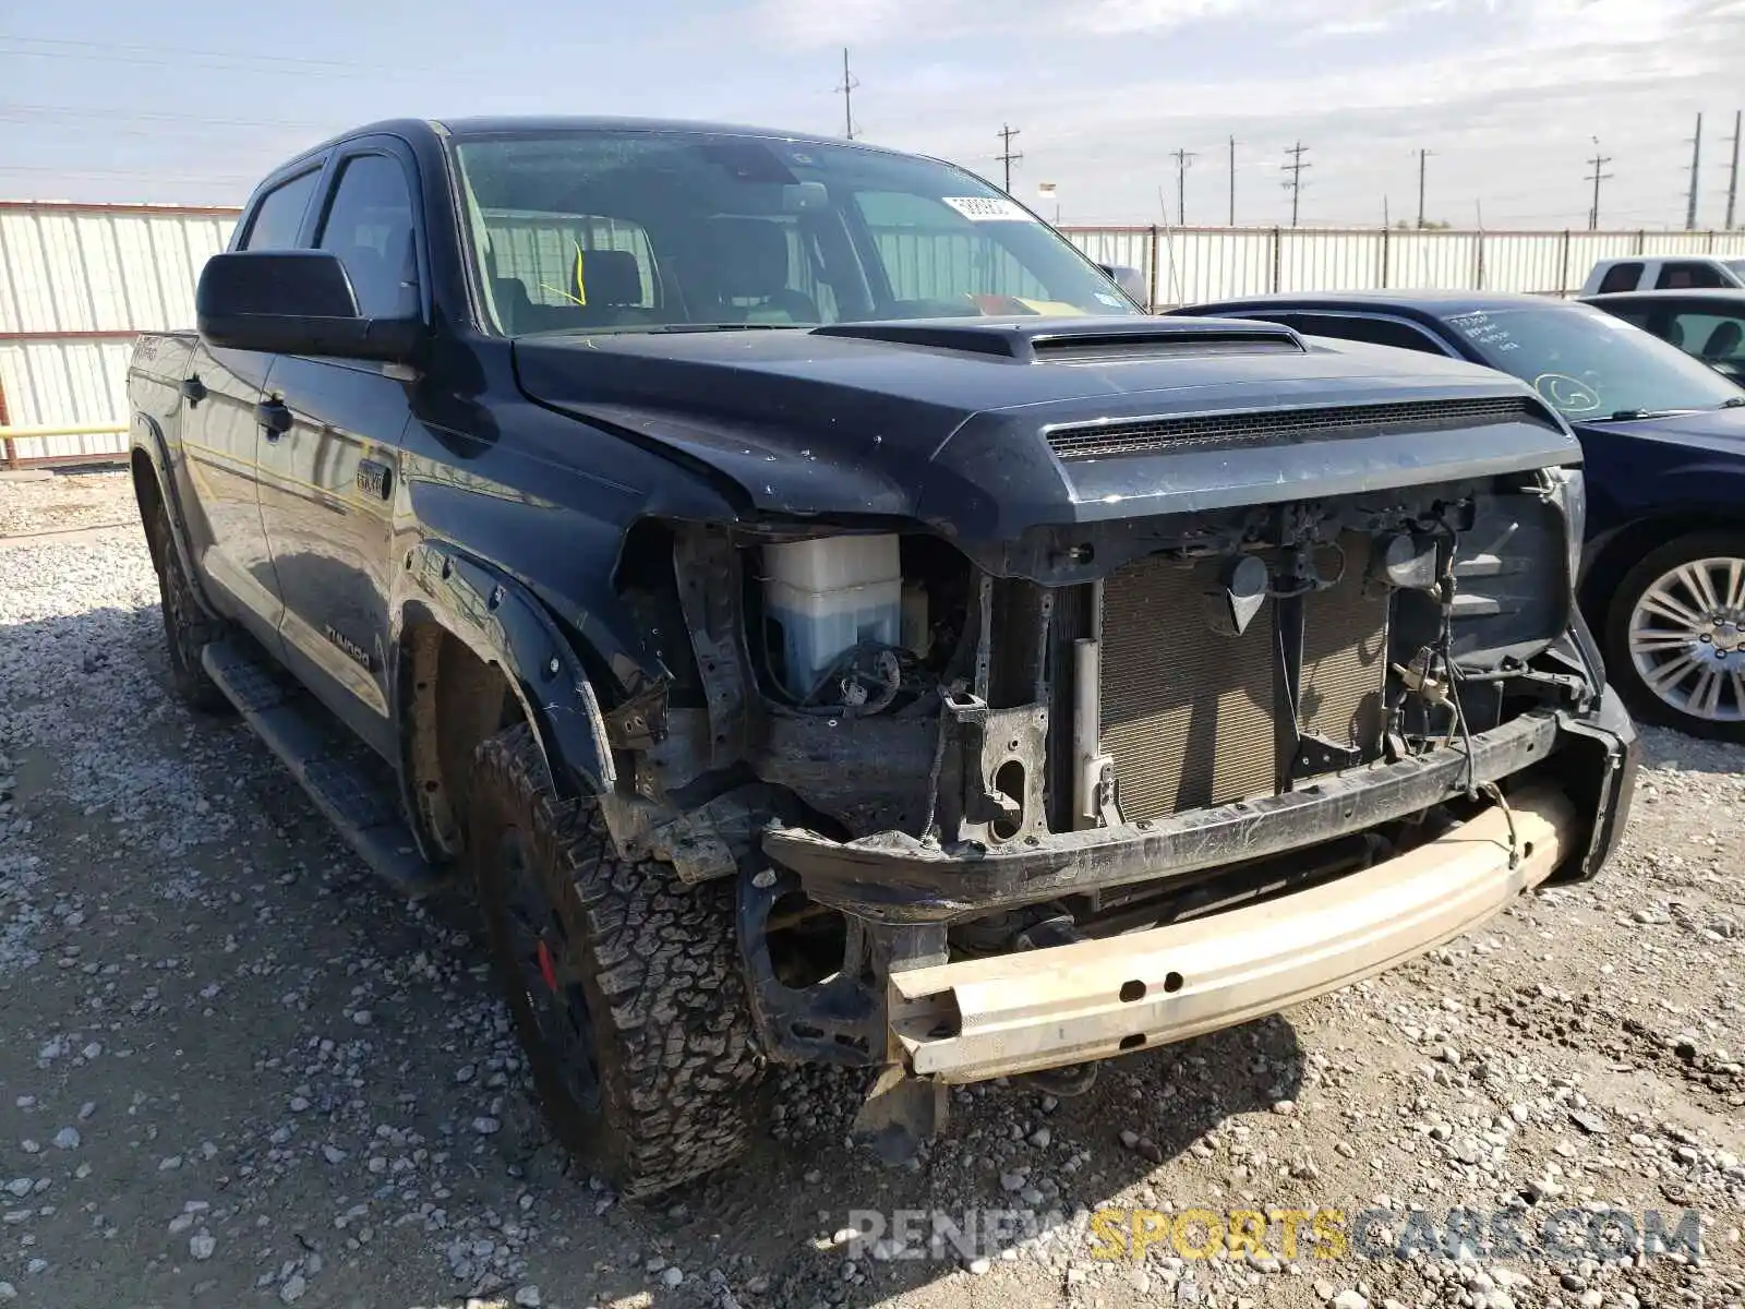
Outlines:
[[1570,419],[1719,408],[1733,382],[1630,323],[1584,305],[1452,314],[1450,328],[1494,368],[1515,374]]

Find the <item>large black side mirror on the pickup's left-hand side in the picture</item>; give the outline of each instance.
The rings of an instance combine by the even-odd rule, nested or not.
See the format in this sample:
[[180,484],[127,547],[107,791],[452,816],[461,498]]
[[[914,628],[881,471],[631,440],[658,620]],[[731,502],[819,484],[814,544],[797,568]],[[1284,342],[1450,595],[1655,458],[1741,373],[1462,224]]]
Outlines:
[[194,318],[218,349],[384,363],[407,361],[424,333],[417,318],[361,318],[346,265],[326,250],[213,255]]

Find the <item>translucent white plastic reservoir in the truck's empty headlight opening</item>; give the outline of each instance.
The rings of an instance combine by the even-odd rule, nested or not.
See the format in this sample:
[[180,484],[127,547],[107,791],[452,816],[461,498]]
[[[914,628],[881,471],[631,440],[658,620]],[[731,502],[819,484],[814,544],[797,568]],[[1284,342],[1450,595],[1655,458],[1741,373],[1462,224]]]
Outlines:
[[[843,651],[900,642],[897,538],[831,536],[764,546],[764,613],[782,634],[782,684],[804,700]],[[827,696],[820,703],[831,703]]]

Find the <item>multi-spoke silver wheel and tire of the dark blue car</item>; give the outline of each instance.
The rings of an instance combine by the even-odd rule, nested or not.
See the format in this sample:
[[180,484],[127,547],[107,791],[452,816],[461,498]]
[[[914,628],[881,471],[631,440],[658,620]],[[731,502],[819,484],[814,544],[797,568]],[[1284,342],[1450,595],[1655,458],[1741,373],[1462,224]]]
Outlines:
[[1605,672],[1644,723],[1745,742],[1745,534],[1693,532],[1625,574]]

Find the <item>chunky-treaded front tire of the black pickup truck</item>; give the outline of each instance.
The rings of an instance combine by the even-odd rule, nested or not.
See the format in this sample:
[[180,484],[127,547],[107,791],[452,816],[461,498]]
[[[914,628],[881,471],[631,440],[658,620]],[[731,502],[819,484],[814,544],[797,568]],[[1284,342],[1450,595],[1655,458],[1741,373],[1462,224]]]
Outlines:
[[[686,887],[663,860],[619,859],[599,805],[557,798],[525,724],[478,747],[468,812],[492,962],[557,1138],[626,1196],[668,1190],[738,1157],[752,1140],[763,1066],[733,883]],[[499,853],[504,840],[529,852],[581,977],[595,1105],[572,1093],[539,1030],[510,918],[517,874]]]

